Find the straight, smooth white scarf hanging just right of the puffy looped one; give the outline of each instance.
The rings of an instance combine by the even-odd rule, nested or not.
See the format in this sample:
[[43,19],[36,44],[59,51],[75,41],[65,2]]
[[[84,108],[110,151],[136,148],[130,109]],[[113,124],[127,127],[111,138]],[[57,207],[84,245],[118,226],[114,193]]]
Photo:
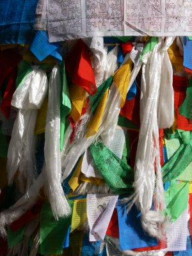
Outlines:
[[60,156],[60,69],[52,69],[45,126],[45,189],[56,219],[70,214],[70,207],[61,186]]

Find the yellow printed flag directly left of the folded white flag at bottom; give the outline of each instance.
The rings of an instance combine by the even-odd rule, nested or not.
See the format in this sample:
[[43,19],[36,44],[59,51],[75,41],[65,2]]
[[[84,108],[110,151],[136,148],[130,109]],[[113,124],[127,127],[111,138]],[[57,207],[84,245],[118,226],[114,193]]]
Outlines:
[[86,220],[86,198],[74,200],[70,232],[73,232],[76,228],[81,227],[86,222]]

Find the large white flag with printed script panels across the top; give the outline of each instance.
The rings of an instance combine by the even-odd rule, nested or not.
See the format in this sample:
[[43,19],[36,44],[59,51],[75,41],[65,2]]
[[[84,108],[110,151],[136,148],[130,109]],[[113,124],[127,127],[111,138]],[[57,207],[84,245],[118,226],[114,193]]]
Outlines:
[[92,36],[192,35],[191,0],[48,0],[50,42]]

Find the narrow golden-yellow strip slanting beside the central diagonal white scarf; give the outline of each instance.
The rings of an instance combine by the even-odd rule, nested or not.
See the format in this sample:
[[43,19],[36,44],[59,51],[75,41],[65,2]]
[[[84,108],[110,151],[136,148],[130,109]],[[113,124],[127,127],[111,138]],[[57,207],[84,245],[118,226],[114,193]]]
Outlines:
[[106,92],[102,96],[102,99],[100,100],[99,105],[97,106],[97,109],[95,111],[95,114],[92,117],[92,120],[90,120],[90,122],[88,123],[88,131],[86,132],[86,137],[93,136],[94,134],[97,133],[100,122],[102,120],[104,109],[106,107],[108,95],[109,95],[109,88],[108,90],[106,90]]

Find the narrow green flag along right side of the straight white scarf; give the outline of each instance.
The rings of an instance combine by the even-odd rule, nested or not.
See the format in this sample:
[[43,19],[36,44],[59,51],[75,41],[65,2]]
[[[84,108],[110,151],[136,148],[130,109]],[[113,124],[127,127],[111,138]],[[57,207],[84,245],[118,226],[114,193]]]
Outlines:
[[68,93],[68,83],[67,76],[65,73],[65,63],[62,62],[60,65],[60,74],[61,74],[61,106],[60,106],[60,150],[63,149],[63,142],[65,139],[65,131],[69,125],[67,116],[71,111],[71,102],[70,96]]

